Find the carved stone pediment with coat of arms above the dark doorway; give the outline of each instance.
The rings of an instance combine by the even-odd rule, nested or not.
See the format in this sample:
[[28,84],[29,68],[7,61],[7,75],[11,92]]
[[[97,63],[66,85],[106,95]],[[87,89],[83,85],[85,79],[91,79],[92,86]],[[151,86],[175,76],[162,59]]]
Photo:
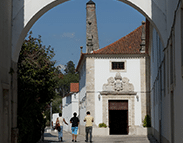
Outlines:
[[108,83],[103,84],[103,91],[101,94],[136,94],[134,92],[134,86],[132,83],[129,83],[127,77],[121,77],[121,74],[118,72],[116,76],[110,77],[107,79]]

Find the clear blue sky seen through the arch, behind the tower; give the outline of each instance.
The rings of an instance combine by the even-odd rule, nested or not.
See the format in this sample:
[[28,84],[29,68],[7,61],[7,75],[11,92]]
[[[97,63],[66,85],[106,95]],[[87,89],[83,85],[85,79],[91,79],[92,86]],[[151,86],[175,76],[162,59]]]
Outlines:
[[[77,66],[80,46],[86,52],[86,3],[71,0],[45,13],[30,29],[41,35],[43,45],[54,48],[56,65],[72,60]],[[117,0],[93,0],[96,3],[99,46],[103,48],[141,25],[145,17]]]

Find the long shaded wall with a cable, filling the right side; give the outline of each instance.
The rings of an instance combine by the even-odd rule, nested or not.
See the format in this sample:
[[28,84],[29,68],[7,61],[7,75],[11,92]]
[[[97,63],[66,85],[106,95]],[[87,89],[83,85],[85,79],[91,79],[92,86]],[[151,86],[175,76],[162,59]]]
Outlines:
[[165,45],[160,43],[155,29],[151,33],[152,127],[154,136],[163,143],[183,142],[182,7],[178,1],[166,2]]

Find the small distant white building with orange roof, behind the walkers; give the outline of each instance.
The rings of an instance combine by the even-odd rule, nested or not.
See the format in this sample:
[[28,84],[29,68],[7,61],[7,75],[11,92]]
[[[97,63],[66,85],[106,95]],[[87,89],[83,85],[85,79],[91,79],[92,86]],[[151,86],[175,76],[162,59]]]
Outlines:
[[79,115],[79,83],[70,83],[70,93],[62,98],[62,117],[68,125],[63,125],[63,129],[67,132],[71,132],[70,119],[73,117],[73,113],[76,112]]

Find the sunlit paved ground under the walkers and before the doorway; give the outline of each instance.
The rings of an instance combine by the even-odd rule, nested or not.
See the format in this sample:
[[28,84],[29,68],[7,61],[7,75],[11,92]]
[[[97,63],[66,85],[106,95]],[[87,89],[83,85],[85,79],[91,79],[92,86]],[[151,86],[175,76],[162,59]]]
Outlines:
[[[63,142],[72,143],[71,134],[63,132]],[[47,131],[44,133],[44,142],[40,143],[55,143],[58,141],[57,131]],[[85,143],[85,137],[78,135],[77,142]],[[132,135],[110,135],[105,137],[95,136],[93,137],[93,143],[158,143],[152,136],[132,136]]]

